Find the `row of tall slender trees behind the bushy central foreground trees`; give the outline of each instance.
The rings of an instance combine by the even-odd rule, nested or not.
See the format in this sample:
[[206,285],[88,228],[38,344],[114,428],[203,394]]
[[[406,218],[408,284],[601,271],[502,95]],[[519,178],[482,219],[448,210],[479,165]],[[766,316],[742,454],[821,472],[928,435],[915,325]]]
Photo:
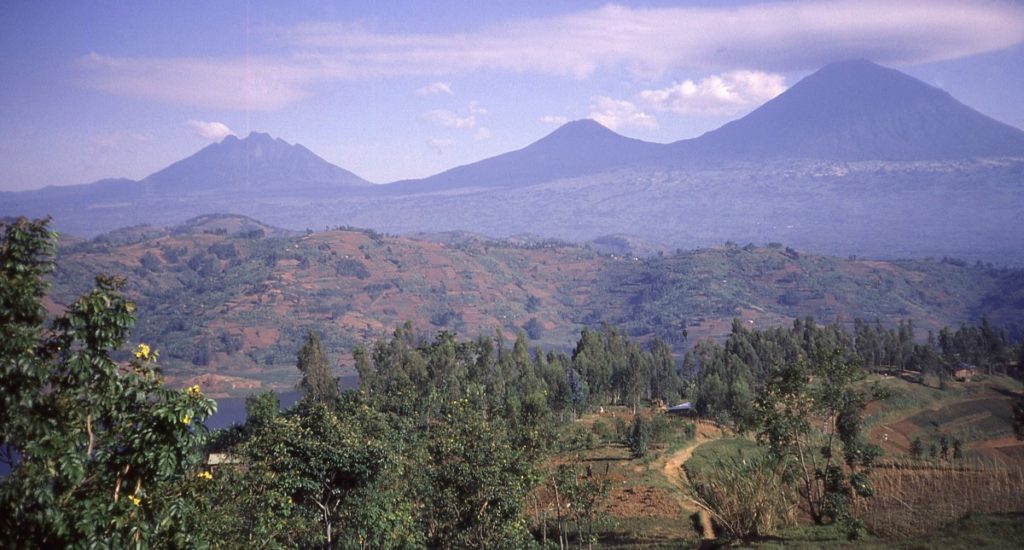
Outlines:
[[470,398],[484,414],[506,419],[556,414],[573,418],[591,406],[675,400],[682,380],[669,346],[649,349],[610,326],[584,329],[571,355],[529,348],[520,332],[511,348],[501,331],[457,341],[442,331],[433,341],[412,324],[371,348],[357,348],[360,389],[387,410],[429,414],[431,404]]

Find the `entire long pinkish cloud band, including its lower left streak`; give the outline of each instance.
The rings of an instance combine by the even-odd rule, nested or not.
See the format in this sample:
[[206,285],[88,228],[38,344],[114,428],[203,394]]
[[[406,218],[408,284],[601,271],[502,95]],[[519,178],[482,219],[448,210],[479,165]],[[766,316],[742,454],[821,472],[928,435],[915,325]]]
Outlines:
[[273,111],[330,81],[478,71],[586,78],[618,68],[650,79],[679,70],[806,71],[849,58],[895,66],[959,58],[1024,42],[1024,6],[963,0],[658,8],[609,4],[460,33],[397,34],[335,22],[271,29],[271,34],[269,41],[293,53],[176,58],[91,54],[80,66],[88,84],[114,94]]

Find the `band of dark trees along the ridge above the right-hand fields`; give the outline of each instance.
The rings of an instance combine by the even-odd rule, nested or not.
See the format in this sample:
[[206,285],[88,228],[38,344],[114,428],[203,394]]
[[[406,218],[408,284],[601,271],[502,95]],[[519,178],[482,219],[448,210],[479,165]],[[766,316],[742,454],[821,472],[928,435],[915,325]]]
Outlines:
[[688,351],[681,374],[684,393],[697,413],[723,421],[750,416],[757,390],[772,369],[808,357],[844,350],[848,361],[867,372],[918,373],[921,380],[934,377],[940,387],[956,371],[975,374],[1007,373],[1024,366],[1024,342],[1015,346],[1005,330],[982,316],[979,326],[962,324],[955,330],[932,331],[920,342],[912,321],[896,327],[855,321],[853,331],[840,324],[819,325],[812,318],[798,319],[791,327],[749,329],[733,320],[725,342],[706,340]]

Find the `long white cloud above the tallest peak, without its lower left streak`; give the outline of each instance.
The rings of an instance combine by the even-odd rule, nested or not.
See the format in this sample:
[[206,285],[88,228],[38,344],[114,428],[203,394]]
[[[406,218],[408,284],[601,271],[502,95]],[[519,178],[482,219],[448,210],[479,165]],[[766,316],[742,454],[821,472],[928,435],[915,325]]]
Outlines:
[[620,65],[644,74],[737,66],[790,70],[851,57],[920,62],[1006,48],[1024,41],[1024,7],[964,0],[608,4],[453,34],[390,34],[343,22],[298,25],[282,35],[300,48],[335,51],[353,76],[498,69],[586,77]]

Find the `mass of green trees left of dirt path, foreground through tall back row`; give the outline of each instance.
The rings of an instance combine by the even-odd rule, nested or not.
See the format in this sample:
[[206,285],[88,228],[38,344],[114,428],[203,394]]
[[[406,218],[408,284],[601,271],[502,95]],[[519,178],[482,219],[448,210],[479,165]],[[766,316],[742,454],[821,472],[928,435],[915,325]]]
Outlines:
[[[303,398],[281,414],[270,392],[248,399],[247,424],[212,443],[226,464],[209,474],[189,530],[246,546],[528,548],[535,530],[546,533],[525,510],[543,484],[572,510],[571,528],[569,516],[552,518],[558,537],[593,541],[610,485],[542,460],[590,446],[593,435],[562,429],[588,407],[675,398],[681,381],[667,345],[645,350],[609,327],[584,331],[571,355],[526,342],[427,339],[407,323],[355,349],[360,387],[341,393],[309,333]],[[615,429],[642,456],[659,425]]]

